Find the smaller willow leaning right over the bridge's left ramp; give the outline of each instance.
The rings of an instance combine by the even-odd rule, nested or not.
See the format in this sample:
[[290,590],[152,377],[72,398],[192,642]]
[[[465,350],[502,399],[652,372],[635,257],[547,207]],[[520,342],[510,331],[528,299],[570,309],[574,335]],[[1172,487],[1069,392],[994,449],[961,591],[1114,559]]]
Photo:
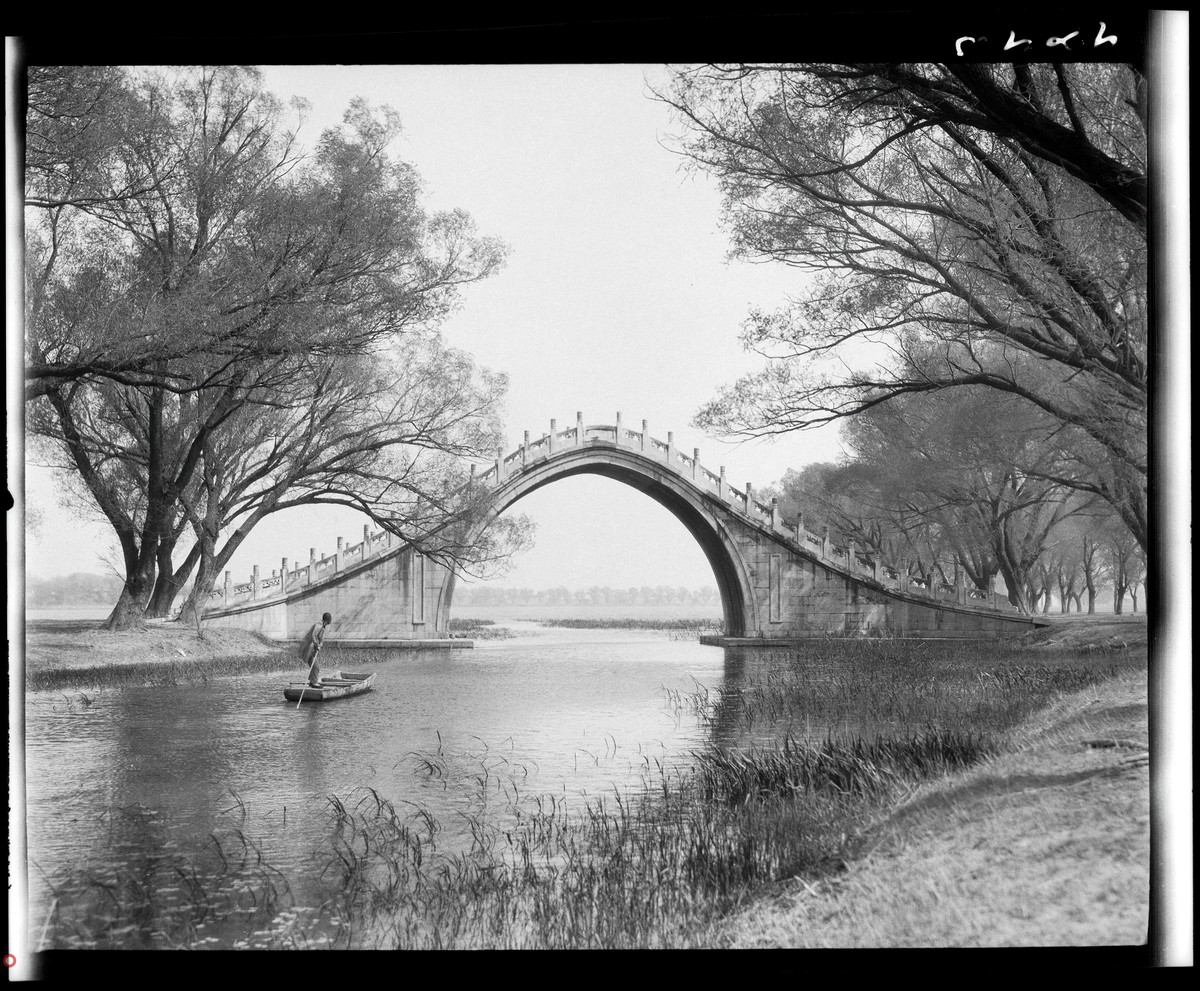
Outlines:
[[[180,620],[203,613],[241,542],[296,506],[361,512],[426,557],[488,573],[524,543],[524,517],[492,519],[472,458],[503,440],[503,376],[475,367],[436,334],[371,355],[306,359],[287,390],[260,396],[214,432],[197,484],[181,496],[196,564]],[[186,579],[186,573],[185,573]],[[175,587],[181,582],[176,577]]]

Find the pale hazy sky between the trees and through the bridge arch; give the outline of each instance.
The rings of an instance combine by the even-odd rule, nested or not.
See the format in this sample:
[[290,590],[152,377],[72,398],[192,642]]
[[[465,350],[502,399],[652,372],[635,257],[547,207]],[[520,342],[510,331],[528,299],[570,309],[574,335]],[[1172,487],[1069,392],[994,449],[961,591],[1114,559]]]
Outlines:
[[[785,301],[800,277],[778,265],[726,260],[720,197],[670,150],[676,126],[649,85],[661,66],[264,66],[268,89],[301,96],[311,148],[352,98],[390,104],[403,131],[392,146],[425,184],[431,209],[467,210],[481,234],[510,246],[508,265],[469,287],[448,340],[509,376],[510,449],[557,419],[626,424],[678,448],[701,449],[736,486],[776,481],[788,468],[836,456],[834,431],[776,443],[721,444],[689,426],[718,388],[758,366],[738,331],[751,306]],[[649,85],[648,85],[649,84]],[[29,535],[26,570],[103,571],[110,529],[64,511],[44,469],[26,493],[44,522]],[[714,584],[695,541],[646,496],[599,478],[568,479],[510,512],[538,523],[535,546],[503,584]],[[364,517],[334,509],[270,517],[230,563],[305,560],[360,539]]]

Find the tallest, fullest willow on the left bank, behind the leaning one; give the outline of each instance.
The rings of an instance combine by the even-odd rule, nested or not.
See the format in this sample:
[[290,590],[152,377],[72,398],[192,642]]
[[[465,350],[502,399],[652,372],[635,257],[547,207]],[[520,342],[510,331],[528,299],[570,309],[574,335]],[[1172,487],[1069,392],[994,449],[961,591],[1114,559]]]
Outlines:
[[355,101],[302,155],[256,70],[121,84],[91,104],[104,139],[76,192],[43,196],[53,170],[31,168],[25,211],[30,424],[120,541],[114,626],[146,608],[184,494],[239,412],[286,392],[299,361],[436,326],[503,262],[466,214],[421,209],[386,108]]

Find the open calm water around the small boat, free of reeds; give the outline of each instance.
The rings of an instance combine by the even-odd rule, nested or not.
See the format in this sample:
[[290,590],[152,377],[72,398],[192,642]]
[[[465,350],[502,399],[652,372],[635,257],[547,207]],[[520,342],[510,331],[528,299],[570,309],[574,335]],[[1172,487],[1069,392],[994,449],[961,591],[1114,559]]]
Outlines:
[[490,795],[498,809],[518,793],[611,795],[644,768],[679,767],[706,745],[664,690],[720,686],[732,677],[722,649],[649,632],[512,625],[518,639],[473,650],[330,648],[326,671],[373,669],[374,690],[299,710],[283,686],[300,672],[101,690],[89,705],[78,692],[30,693],[35,931],[50,901],[46,878],[187,855],[228,828],[302,877],[329,834],[329,798],[364,786],[398,810],[427,810],[445,851],[469,845],[469,822],[487,815]]

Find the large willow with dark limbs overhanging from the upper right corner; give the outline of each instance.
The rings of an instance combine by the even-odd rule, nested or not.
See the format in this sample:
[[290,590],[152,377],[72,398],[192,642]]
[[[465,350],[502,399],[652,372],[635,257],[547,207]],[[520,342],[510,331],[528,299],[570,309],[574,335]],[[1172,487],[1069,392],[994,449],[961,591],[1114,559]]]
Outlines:
[[698,426],[766,436],[989,388],[1060,425],[1076,456],[1055,481],[1103,497],[1146,546],[1134,67],[714,65],[678,70],[660,98],[721,186],[733,252],[806,276],[750,314],[744,343],[768,362]]

